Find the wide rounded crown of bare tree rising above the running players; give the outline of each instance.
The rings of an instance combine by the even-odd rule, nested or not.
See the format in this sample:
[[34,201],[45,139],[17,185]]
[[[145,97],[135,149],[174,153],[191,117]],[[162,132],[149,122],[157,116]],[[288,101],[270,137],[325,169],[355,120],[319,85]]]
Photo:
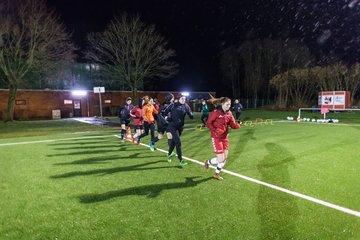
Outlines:
[[171,60],[175,51],[140,17],[115,17],[102,33],[88,35],[87,57],[103,70],[131,88],[133,96],[145,80],[165,79],[177,73],[178,64]]

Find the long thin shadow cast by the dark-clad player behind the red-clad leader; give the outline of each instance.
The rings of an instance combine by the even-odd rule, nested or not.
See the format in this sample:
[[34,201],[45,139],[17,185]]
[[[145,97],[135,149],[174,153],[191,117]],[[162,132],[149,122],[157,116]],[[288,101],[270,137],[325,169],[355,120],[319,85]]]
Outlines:
[[86,176],[86,175],[105,175],[105,174],[113,174],[118,172],[130,172],[130,171],[147,171],[147,170],[154,170],[154,169],[163,169],[163,168],[181,168],[180,166],[163,166],[163,167],[147,167],[143,168],[144,166],[149,166],[152,164],[165,162],[165,161],[154,161],[154,162],[147,162],[127,167],[116,167],[116,168],[103,168],[103,169],[94,169],[89,171],[73,171],[58,175],[53,175],[50,178],[69,178],[69,177],[76,177],[76,176]]

